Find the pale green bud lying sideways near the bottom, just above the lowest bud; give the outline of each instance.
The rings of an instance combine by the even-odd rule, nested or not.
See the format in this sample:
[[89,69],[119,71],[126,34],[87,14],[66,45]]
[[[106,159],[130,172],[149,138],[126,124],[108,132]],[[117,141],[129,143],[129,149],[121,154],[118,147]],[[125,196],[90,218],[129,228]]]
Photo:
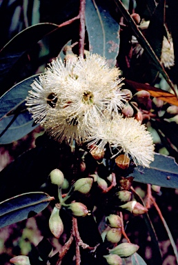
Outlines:
[[138,249],[138,245],[125,242],[119,244],[115,248],[110,249],[109,253],[119,255],[120,257],[129,257],[138,251]]

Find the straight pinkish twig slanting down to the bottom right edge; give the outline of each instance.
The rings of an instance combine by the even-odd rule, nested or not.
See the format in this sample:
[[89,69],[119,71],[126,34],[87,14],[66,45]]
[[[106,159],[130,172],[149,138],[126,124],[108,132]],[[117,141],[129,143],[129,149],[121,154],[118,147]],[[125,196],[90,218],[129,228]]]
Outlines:
[[170,239],[170,244],[172,245],[172,248],[173,248],[173,251],[175,253],[175,257],[176,257],[176,260],[177,260],[177,264],[178,264],[178,253],[177,253],[177,246],[175,244],[175,241],[172,237],[172,234],[170,233],[170,229],[168,228],[168,225],[161,213],[161,210],[159,209],[159,206],[157,205],[157,203],[155,202],[155,199],[153,197],[150,197],[151,201],[152,201],[152,204],[155,206],[155,208],[157,209],[157,213],[159,214],[159,217],[162,221],[162,223],[164,224],[164,228],[166,229],[166,232],[168,233],[168,237]]

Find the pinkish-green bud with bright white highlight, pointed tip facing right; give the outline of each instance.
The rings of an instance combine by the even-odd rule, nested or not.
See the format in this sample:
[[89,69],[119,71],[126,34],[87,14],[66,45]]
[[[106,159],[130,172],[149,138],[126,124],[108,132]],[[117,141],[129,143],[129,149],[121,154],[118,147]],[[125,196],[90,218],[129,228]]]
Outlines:
[[148,212],[148,209],[146,207],[136,201],[127,202],[126,204],[123,204],[119,207],[129,210],[134,215],[143,215],[144,213]]

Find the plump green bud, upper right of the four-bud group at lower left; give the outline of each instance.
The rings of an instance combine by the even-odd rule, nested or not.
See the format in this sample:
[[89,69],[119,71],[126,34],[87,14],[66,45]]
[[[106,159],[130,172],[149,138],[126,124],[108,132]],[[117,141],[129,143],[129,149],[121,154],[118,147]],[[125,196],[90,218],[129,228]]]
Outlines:
[[81,179],[78,179],[75,184],[75,190],[79,191],[79,193],[89,193],[90,189],[92,188],[92,177],[83,177]]

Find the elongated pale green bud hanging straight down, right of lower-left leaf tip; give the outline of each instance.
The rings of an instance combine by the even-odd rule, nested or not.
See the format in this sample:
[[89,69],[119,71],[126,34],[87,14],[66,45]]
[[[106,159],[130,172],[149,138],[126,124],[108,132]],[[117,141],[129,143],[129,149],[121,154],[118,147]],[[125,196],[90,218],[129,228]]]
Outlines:
[[50,231],[55,237],[59,238],[63,233],[63,222],[59,216],[59,209],[55,206],[49,219]]

